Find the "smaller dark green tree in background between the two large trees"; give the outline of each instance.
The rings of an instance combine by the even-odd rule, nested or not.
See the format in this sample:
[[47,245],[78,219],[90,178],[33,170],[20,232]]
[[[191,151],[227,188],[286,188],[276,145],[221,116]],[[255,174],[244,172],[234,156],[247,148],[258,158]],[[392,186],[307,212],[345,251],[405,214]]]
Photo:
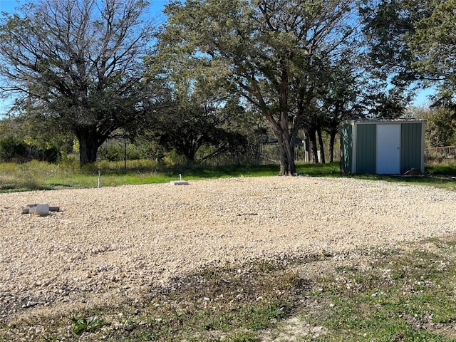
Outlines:
[[231,113],[224,110],[226,98],[217,96],[215,90],[212,95],[205,93],[205,87],[194,80],[185,80],[185,76],[179,78],[178,84],[170,83],[168,81],[169,87],[163,86],[170,92],[167,102],[151,116],[154,124],[150,133],[160,145],[174,149],[190,163],[195,162],[203,146],[213,150],[203,156],[202,161],[245,145],[245,137],[226,126],[232,118]]

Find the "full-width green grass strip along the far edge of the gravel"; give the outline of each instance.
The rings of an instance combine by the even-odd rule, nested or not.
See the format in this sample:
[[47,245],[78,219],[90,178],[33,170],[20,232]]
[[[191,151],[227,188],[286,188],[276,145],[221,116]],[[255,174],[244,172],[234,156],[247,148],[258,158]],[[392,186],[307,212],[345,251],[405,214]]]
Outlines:
[[[456,163],[427,165],[422,176],[388,175],[343,175],[338,162],[326,164],[299,163],[297,172],[310,177],[353,177],[366,180],[384,180],[415,185],[430,185],[456,190]],[[81,170],[74,162],[62,165],[46,162],[28,162],[16,165],[0,164],[0,192],[28,190],[53,190],[62,187],[97,187],[98,171],[101,172],[101,185],[139,185],[165,183],[178,180],[199,180],[222,177],[261,177],[279,174],[279,165],[159,165],[150,160],[128,162],[98,162]]]

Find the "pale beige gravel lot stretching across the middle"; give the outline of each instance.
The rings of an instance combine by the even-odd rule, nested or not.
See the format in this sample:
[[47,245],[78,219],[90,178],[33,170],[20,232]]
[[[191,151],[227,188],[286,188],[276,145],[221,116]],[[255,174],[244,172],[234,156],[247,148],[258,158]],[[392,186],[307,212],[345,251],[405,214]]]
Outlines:
[[[58,206],[47,217],[27,204]],[[456,192],[256,177],[0,194],[0,318],[138,299],[208,265],[452,234]]]

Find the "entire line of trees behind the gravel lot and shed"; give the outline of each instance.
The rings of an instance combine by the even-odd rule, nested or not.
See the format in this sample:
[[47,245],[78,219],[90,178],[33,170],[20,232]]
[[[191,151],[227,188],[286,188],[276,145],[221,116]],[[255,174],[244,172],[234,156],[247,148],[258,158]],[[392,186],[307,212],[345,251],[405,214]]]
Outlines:
[[410,115],[427,86],[427,119],[454,137],[455,0],[170,1],[162,24],[149,5],[37,0],[1,14],[0,89],[15,105],[0,153],[14,137],[38,155],[76,142],[82,166],[123,138],[195,161],[274,135],[293,175],[299,135],[315,153],[327,135],[331,160],[342,120]]

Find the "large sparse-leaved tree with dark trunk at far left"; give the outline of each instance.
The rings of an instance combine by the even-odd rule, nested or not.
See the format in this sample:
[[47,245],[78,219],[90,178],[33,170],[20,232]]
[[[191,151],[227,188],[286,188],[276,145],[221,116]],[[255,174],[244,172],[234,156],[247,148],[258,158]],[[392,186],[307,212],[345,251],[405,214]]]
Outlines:
[[38,0],[0,19],[0,89],[28,118],[53,120],[79,141],[80,163],[141,110],[150,27],[144,0]]

